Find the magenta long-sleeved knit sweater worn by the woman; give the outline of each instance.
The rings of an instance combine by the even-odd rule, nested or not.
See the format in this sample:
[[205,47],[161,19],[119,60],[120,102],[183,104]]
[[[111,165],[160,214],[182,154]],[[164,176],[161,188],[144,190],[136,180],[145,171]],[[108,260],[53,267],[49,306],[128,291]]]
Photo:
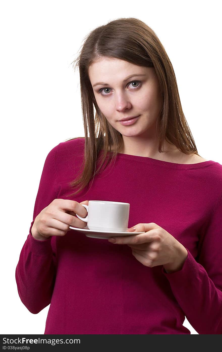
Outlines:
[[[187,249],[183,268],[149,268],[128,245],[70,230],[45,241],[30,232],[16,267],[18,293],[37,314],[50,304],[45,334],[222,333],[222,165],[176,164],[118,154],[75,197],[67,183],[78,174],[84,139],[48,154],[33,221],[54,199],[130,203],[128,227],[155,222]],[[33,331],[34,332],[34,331]]]

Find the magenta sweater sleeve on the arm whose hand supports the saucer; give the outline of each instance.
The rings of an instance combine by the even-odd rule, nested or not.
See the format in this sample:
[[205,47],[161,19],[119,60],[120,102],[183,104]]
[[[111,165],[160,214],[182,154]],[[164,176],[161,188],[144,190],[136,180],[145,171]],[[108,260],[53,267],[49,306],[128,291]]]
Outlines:
[[183,268],[167,274],[172,292],[198,334],[222,334],[222,195],[199,241],[197,260],[186,248]]

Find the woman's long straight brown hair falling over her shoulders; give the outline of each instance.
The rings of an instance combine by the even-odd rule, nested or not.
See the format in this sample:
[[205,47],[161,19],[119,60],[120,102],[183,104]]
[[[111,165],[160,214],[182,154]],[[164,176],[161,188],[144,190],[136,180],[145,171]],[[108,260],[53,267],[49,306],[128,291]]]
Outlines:
[[[81,105],[84,122],[85,151],[79,177],[69,182],[70,187],[81,184],[76,195],[87,186],[108,161],[115,161],[123,147],[122,134],[115,130],[100,111],[93,93],[88,68],[102,57],[117,58],[139,66],[154,67],[160,82],[163,106],[157,120],[159,125],[159,152],[163,152],[164,140],[177,146],[185,154],[196,154],[192,133],[185,119],[175,73],[169,57],[155,32],[137,18],[118,18],[92,30],[85,38],[79,56],[73,66],[80,73]],[[95,116],[94,116],[94,107]],[[76,139],[72,138],[72,139]],[[72,140],[69,139],[69,140]],[[112,149],[111,149],[112,146]],[[103,151],[97,168],[98,153]],[[92,179],[92,182],[93,182]],[[70,196],[69,195],[69,196]]]

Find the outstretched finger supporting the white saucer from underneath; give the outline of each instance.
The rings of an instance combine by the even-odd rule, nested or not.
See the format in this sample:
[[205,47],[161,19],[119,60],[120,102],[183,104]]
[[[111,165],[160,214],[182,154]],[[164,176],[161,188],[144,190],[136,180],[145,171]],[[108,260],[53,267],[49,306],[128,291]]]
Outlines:
[[149,243],[153,242],[156,239],[156,231],[150,230],[149,232],[131,235],[131,236],[119,236],[119,237],[112,237],[115,238],[115,244],[142,244],[142,243]]

